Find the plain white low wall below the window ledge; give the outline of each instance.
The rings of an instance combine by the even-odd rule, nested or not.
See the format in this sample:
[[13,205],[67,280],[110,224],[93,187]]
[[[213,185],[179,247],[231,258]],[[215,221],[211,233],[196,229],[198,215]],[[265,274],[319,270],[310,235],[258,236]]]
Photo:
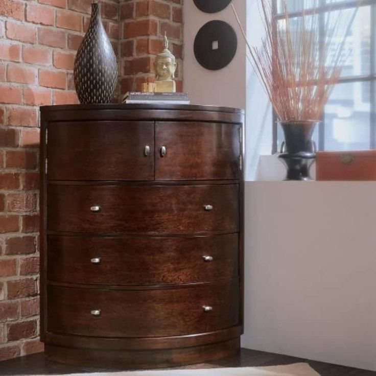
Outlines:
[[376,370],[375,192],[246,184],[244,347]]

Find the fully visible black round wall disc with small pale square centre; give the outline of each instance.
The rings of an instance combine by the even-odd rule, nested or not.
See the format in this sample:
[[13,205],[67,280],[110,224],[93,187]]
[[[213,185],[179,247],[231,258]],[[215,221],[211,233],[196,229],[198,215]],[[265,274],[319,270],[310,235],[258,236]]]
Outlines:
[[236,32],[227,22],[214,20],[198,31],[194,52],[197,61],[206,69],[218,70],[230,63],[237,52]]

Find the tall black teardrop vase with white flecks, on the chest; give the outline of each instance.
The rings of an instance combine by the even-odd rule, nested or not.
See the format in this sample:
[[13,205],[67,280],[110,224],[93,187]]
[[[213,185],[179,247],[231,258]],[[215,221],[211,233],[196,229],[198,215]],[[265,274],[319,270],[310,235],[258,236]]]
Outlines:
[[91,5],[91,19],[75,60],[75,85],[81,103],[110,103],[117,83],[117,63],[101,20],[101,5]]

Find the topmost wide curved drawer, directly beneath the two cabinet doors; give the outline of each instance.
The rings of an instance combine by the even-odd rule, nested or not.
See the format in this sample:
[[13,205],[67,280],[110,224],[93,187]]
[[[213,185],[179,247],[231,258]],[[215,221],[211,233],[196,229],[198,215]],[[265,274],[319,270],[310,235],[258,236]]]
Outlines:
[[91,233],[239,230],[239,186],[49,185],[48,229]]

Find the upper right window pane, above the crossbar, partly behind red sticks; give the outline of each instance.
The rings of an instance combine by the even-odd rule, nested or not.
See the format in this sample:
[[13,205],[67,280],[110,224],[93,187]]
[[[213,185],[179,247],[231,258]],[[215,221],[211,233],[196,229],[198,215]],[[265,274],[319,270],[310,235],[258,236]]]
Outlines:
[[331,65],[338,51],[342,51],[342,77],[369,75],[371,7],[330,12],[326,14],[325,22],[327,26],[332,27],[332,30],[327,31],[327,35],[334,32],[326,65]]

